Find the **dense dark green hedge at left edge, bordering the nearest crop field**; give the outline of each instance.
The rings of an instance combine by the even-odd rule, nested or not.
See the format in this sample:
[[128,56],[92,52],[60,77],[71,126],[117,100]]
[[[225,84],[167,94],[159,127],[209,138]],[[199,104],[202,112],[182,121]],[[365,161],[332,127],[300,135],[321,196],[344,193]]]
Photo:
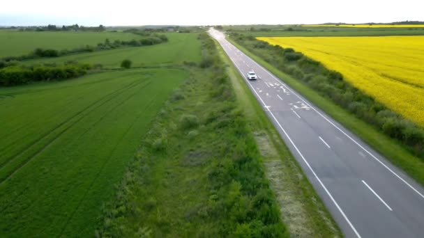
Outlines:
[[[0,64],[1,65],[1,64]],[[6,65],[0,69],[0,86],[16,86],[34,81],[53,81],[80,77],[93,66],[81,63],[63,65]]]

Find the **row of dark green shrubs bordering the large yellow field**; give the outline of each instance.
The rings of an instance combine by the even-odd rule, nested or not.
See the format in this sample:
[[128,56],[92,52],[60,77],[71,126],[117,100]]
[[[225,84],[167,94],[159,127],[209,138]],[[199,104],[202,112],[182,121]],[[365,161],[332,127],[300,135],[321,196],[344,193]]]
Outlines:
[[290,48],[269,45],[239,33],[230,37],[275,68],[302,81],[386,136],[394,138],[424,161],[424,129],[351,86],[340,72],[328,70],[321,63]]

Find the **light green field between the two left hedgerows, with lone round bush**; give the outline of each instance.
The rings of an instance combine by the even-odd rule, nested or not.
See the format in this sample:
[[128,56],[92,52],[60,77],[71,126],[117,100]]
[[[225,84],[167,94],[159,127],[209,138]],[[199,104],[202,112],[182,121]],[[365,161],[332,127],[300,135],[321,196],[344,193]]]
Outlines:
[[183,61],[200,60],[200,44],[197,34],[167,33],[169,42],[148,47],[127,47],[106,51],[97,51],[91,54],[74,54],[59,58],[43,58],[33,61],[24,61],[24,64],[34,63],[64,63],[78,61],[79,63],[100,63],[107,68],[119,68],[121,61],[128,58],[133,67],[157,66],[165,64],[181,64]]

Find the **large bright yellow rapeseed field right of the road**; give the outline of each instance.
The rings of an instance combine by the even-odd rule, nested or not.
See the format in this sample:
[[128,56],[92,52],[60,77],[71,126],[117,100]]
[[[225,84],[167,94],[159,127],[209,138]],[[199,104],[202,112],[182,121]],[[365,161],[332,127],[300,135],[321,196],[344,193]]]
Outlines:
[[351,84],[424,126],[424,36],[259,37],[341,72]]

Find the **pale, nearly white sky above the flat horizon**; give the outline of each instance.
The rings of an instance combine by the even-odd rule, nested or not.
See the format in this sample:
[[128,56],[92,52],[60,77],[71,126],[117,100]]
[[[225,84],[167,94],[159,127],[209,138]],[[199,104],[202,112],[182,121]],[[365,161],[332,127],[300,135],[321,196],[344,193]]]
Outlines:
[[424,21],[423,0],[12,0],[0,26],[320,24]]

